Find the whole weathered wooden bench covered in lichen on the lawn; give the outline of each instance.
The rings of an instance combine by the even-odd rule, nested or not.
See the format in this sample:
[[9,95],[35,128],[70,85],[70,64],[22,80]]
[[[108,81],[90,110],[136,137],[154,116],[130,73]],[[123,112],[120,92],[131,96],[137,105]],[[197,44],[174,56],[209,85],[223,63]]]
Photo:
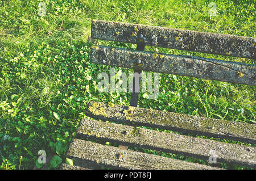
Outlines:
[[[94,45],[91,61],[95,64],[134,69],[138,73],[154,71],[256,86],[255,65],[144,51],[144,45],[150,45],[255,60],[253,37],[93,20],[92,38],[137,44],[137,50]],[[131,94],[130,106],[89,102],[86,115],[95,120],[81,120],[67,151],[74,165],[63,164],[61,169],[101,169],[102,166],[105,169],[219,169],[215,167],[217,164],[201,165],[130,150],[127,146],[207,160],[214,150],[217,162],[255,168],[254,146],[198,137],[255,145],[255,124],[149,110],[137,107],[137,103],[138,92]]]

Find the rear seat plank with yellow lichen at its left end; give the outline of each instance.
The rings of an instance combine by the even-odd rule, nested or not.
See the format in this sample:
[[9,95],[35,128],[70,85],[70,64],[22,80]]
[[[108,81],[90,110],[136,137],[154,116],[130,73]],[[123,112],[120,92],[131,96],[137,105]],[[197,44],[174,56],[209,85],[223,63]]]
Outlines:
[[[129,113],[133,110],[133,113]],[[197,117],[182,113],[127,107],[117,104],[89,102],[86,115],[127,125],[167,129],[187,134],[256,143],[256,125]]]

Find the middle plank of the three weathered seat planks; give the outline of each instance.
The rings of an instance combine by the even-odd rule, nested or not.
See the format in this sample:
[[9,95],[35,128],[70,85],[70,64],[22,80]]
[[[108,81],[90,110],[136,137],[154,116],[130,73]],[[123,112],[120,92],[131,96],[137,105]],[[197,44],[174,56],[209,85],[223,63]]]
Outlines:
[[256,149],[250,146],[227,144],[214,140],[158,132],[151,129],[82,119],[77,129],[79,137],[117,142],[168,153],[208,159],[210,150],[216,151],[218,162],[255,167]]

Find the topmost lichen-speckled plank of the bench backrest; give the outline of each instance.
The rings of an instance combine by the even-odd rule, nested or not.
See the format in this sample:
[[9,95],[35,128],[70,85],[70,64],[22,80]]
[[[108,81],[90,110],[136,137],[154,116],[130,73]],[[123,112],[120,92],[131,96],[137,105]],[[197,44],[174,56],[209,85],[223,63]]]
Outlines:
[[137,43],[142,33],[145,44],[193,52],[220,54],[256,59],[256,38],[219,33],[177,30],[141,24],[92,21],[92,38],[124,43]]

